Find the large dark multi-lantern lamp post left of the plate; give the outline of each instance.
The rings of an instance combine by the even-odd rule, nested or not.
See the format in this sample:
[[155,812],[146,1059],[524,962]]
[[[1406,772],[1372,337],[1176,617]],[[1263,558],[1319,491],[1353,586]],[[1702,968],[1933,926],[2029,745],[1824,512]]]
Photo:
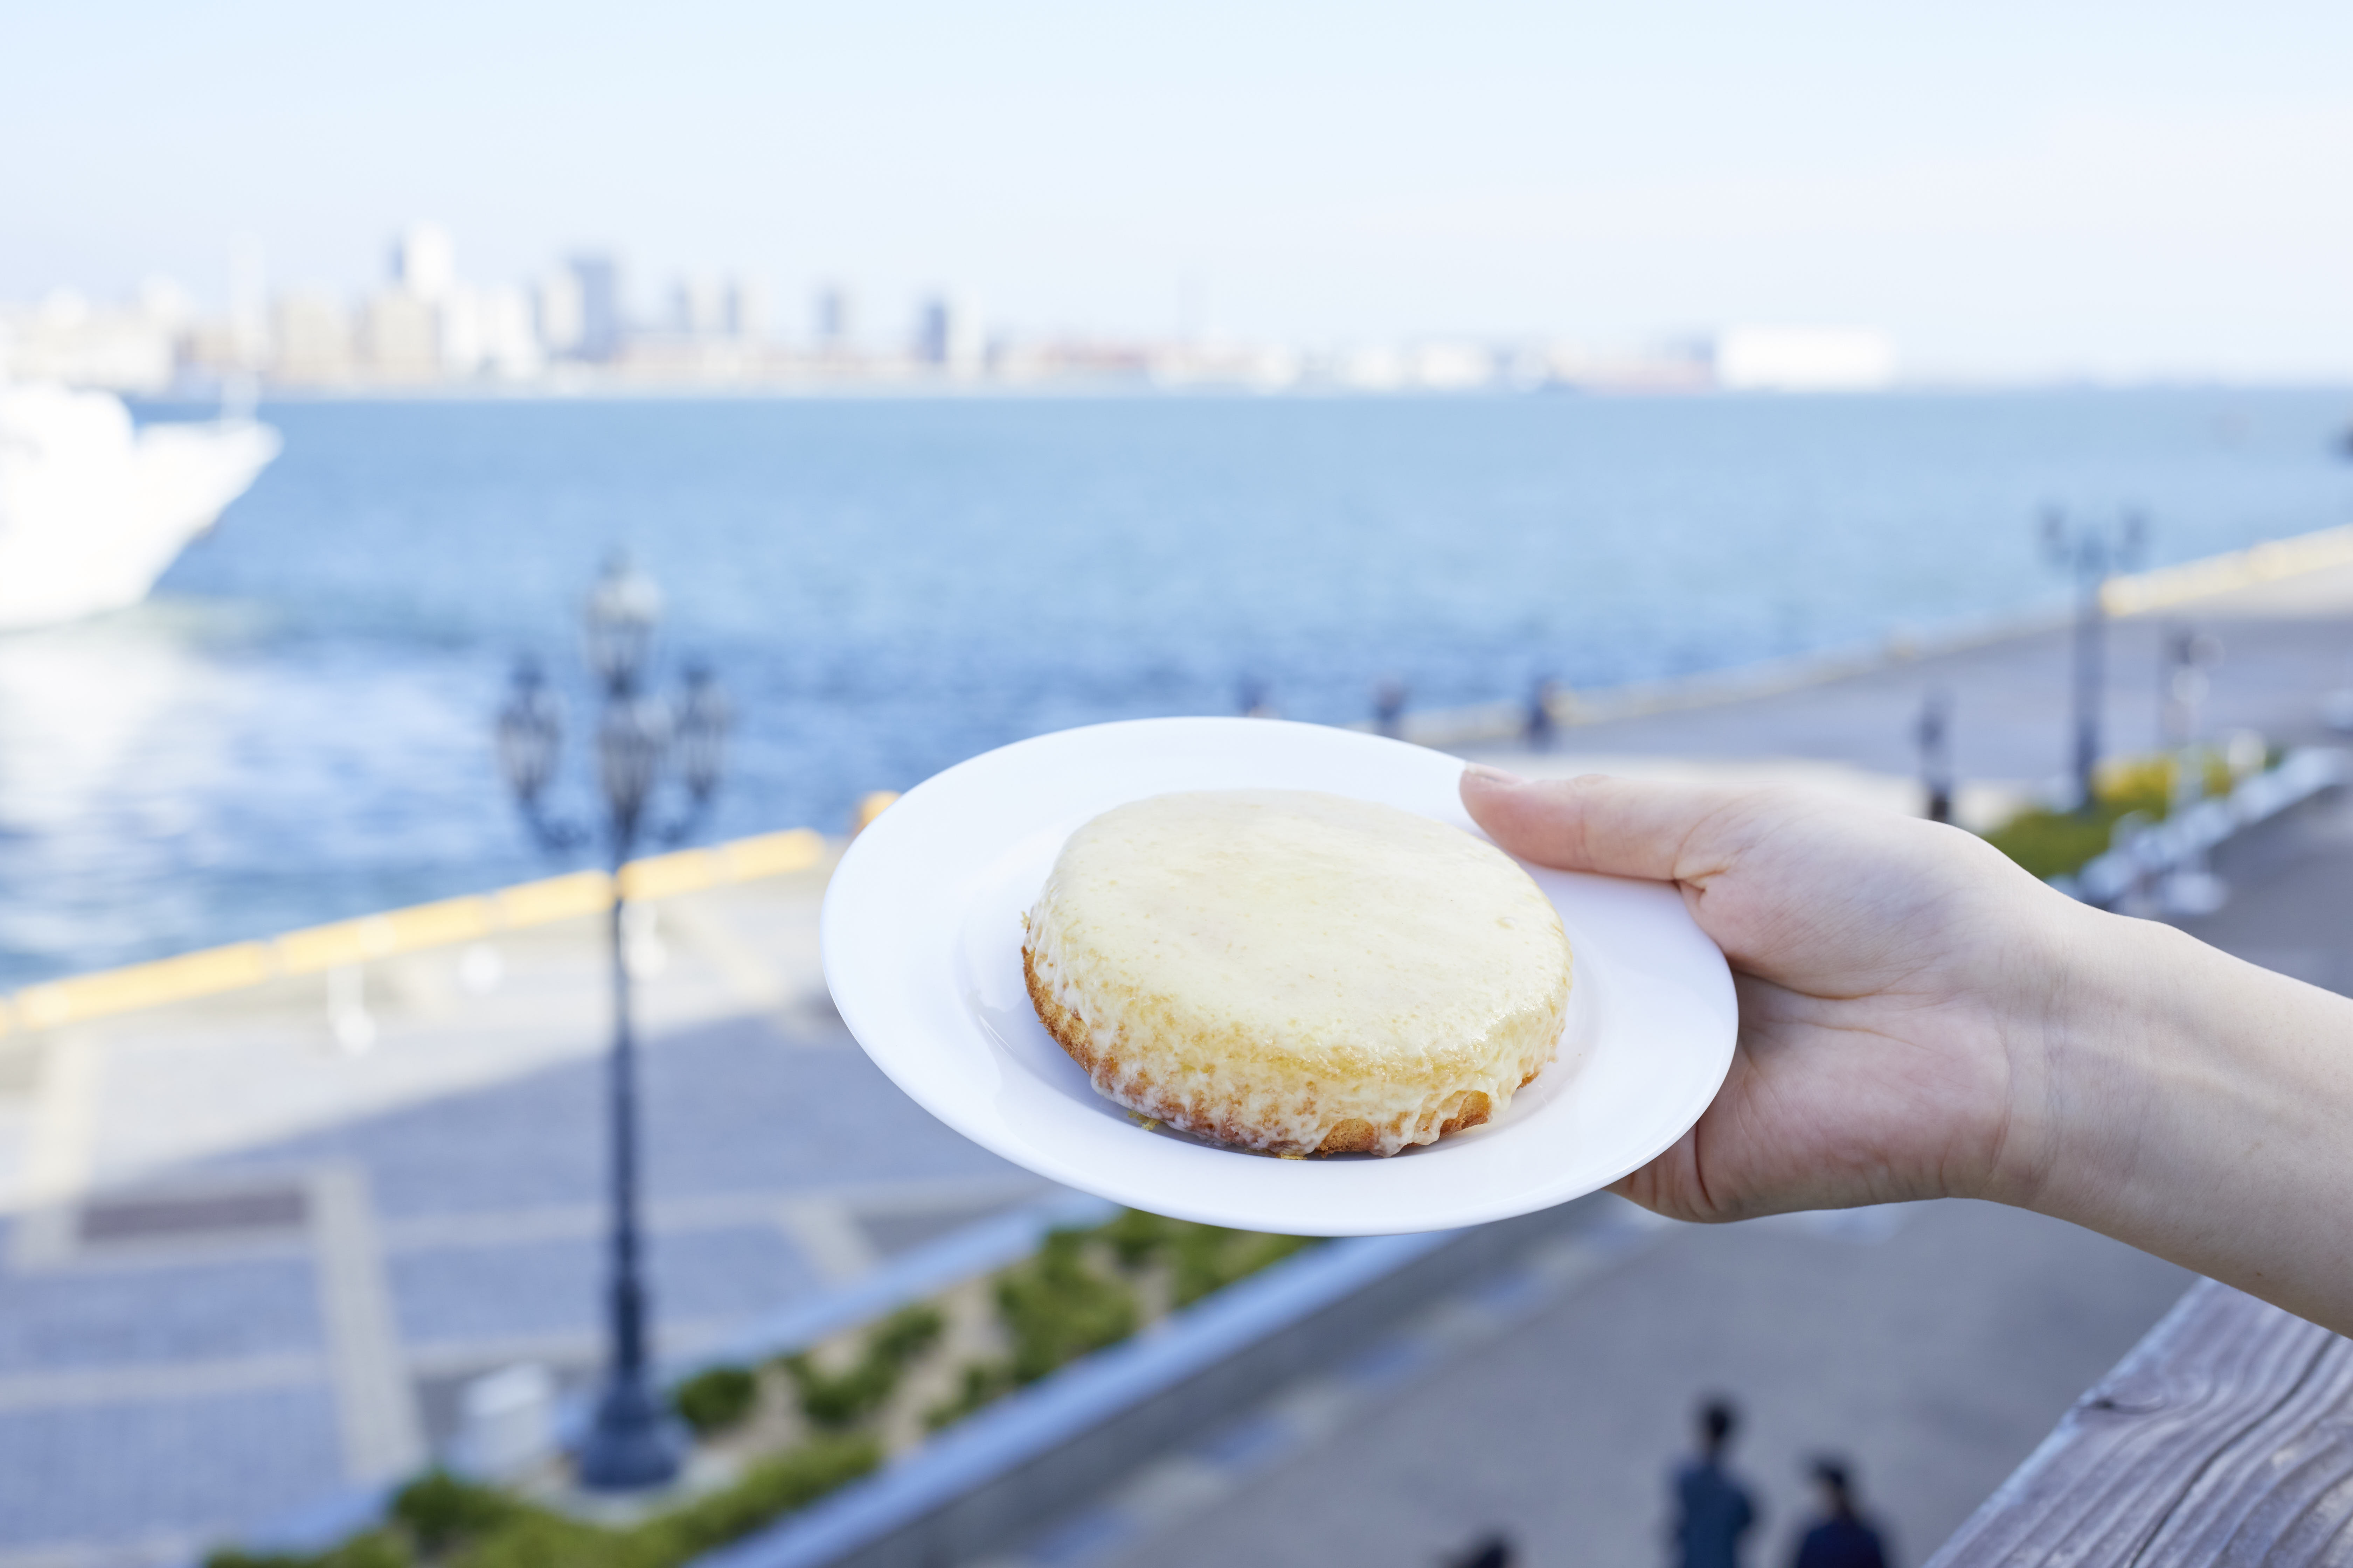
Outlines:
[[[602,693],[595,729],[600,827],[558,818],[546,806],[562,752],[562,705],[536,661],[515,665],[499,712],[499,766],[532,837],[551,853],[602,839],[612,865],[612,1056],[607,1065],[612,1232],[607,1279],[607,1368],[595,1418],[579,1448],[591,1490],[661,1486],[678,1474],[680,1436],[647,1380],[649,1305],[638,1246],[638,1046],[631,1034],[626,903],[621,867],[640,844],[678,844],[704,820],[720,783],[732,712],[711,670],[687,668],[671,701],[645,691],[645,665],[661,621],[661,590],[628,557],[614,555],[588,595],[584,656]],[[675,764],[685,811],[654,813],[666,764]]]

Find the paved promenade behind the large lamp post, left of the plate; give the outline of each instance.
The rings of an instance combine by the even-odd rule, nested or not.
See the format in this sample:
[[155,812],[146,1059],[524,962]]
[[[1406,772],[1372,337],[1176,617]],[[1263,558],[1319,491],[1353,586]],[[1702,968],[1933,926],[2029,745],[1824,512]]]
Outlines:
[[[824,867],[666,900],[645,971],[668,1354],[1047,1192],[889,1086],[814,969]],[[0,1563],[169,1561],[598,1361],[602,933],[0,1039]]]

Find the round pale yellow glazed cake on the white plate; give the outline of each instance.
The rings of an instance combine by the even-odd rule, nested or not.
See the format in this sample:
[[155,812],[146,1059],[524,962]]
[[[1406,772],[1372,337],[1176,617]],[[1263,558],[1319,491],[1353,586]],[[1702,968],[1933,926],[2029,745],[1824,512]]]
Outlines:
[[1028,952],[1085,1023],[1096,1088],[1273,1128],[1238,1138],[1261,1147],[1337,1117],[1426,1143],[1464,1091],[1501,1110],[1551,1058],[1569,990],[1560,917],[1508,856],[1306,790],[1106,811],[1054,863]]

